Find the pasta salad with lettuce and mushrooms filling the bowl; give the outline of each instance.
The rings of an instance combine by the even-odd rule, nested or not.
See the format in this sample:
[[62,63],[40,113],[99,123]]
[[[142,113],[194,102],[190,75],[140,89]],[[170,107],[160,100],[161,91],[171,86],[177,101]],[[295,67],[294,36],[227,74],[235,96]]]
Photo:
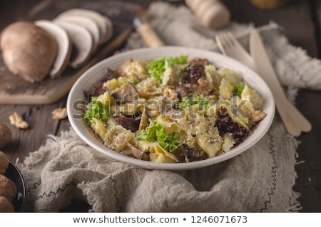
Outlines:
[[105,146],[157,163],[226,153],[266,116],[263,98],[236,71],[188,56],[128,59],[86,96],[84,121]]

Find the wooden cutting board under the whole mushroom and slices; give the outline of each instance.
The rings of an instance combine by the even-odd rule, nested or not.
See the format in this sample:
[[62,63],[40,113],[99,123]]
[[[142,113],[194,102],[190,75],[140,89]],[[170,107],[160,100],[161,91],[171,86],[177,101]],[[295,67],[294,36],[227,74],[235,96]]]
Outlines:
[[[133,31],[133,28],[128,27],[131,24],[133,15],[141,12],[141,6],[122,4],[118,1],[73,1],[68,0],[66,4],[58,5],[55,1],[49,1],[50,4],[47,8],[41,5],[41,11],[37,11],[36,16],[29,16],[29,20],[36,20],[41,18],[52,19],[62,11],[71,8],[85,8],[93,9],[101,14],[106,13],[110,17],[114,24],[114,36],[111,41],[101,46],[98,52],[92,57],[86,66],[81,69],[72,69],[68,67],[60,78],[51,79],[49,76],[41,81],[41,83],[30,83],[22,80],[19,76],[12,74],[9,69],[6,68],[0,53],[0,104],[51,104],[58,101],[63,96],[68,94],[75,81],[83,74],[87,69],[96,64],[98,61],[111,56],[121,44],[128,38]],[[40,7],[36,6],[35,9],[39,10]],[[54,10],[53,10],[54,9]],[[121,12],[115,14],[116,12]],[[30,12],[29,12],[30,13]],[[35,13],[33,13],[35,14]]]

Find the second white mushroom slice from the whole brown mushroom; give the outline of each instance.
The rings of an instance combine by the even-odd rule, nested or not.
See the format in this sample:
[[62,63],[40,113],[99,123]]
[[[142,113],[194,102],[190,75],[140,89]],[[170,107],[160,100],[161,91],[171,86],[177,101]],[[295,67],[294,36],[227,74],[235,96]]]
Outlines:
[[70,22],[56,21],[55,23],[68,33],[73,43],[70,66],[74,69],[83,66],[92,54],[93,38],[91,37],[91,33],[83,28],[83,26]]

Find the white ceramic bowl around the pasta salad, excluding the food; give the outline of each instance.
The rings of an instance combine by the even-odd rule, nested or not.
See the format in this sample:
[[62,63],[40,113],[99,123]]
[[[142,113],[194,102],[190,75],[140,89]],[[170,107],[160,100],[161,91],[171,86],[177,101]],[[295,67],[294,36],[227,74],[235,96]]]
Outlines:
[[[117,151],[113,151],[111,148],[107,148],[106,146],[104,146],[103,143],[98,140],[98,138],[93,136],[93,133],[88,130],[88,127],[86,127],[83,119],[79,117],[81,116],[81,111],[77,105],[80,104],[81,100],[85,99],[84,91],[90,90],[91,86],[93,86],[93,84],[95,84],[103,77],[107,68],[117,70],[119,66],[121,66],[121,64],[127,59],[152,60],[158,59],[163,56],[168,57],[180,55],[188,55],[190,59],[196,57],[208,59],[218,68],[226,67],[237,71],[238,74],[243,77],[243,80],[250,84],[250,86],[252,86],[254,89],[256,89],[256,91],[258,91],[258,93],[263,97],[263,111],[267,114],[267,116],[262,121],[260,121],[260,123],[258,123],[255,131],[253,131],[253,133],[248,138],[246,138],[243,143],[240,143],[240,145],[231,149],[231,151],[227,153],[203,161],[195,161],[190,163],[153,163],[151,161],[142,161],[136,158],[131,158],[118,153]],[[253,70],[249,69],[243,64],[240,64],[238,61],[235,61],[234,59],[230,59],[227,56],[223,56],[213,51],[205,51],[179,46],[164,46],[159,48],[137,49],[121,54],[116,54],[115,56],[104,59],[98,64],[92,66],[91,69],[88,69],[71,88],[71,91],[68,95],[67,111],[68,119],[76,133],[78,133],[83,141],[88,143],[89,146],[95,148],[101,153],[106,154],[106,156],[110,156],[111,158],[114,158],[118,161],[130,163],[134,166],[146,169],[185,171],[195,168],[203,168],[215,163],[220,163],[222,161],[238,156],[240,153],[243,153],[244,151],[248,150],[248,148],[255,145],[255,143],[257,143],[270,128],[275,114],[275,103],[274,99],[272,98],[271,91],[267,87],[263,79],[261,79],[260,76],[258,76],[258,74],[256,74]]]

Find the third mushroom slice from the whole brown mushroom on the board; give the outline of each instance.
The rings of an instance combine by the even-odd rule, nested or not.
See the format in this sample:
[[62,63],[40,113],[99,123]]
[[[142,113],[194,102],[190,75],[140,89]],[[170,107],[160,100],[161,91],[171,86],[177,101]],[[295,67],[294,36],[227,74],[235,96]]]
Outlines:
[[93,51],[95,51],[99,44],[99,39],[101,39],[101,34],[99,31],[98,24],[95,20],[87,17],[87,16],[80,16],[80,15],[68,15],[61,16],[53,20],[54,22],[58,21],[66,21],[70,22],[72,24],[77,24],[80,26],[83,26],[85,29],[87,29],[91,36],[93,37]]

